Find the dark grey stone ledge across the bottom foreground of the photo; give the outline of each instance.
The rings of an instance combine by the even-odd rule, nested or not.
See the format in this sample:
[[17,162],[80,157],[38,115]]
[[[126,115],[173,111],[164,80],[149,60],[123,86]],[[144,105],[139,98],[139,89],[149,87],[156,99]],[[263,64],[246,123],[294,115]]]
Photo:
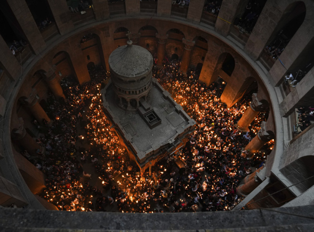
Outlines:
[[[225,212],[122,214],[2,208],[6,231],[291,231],[313,224],[314,205]],[[301,227],[295,227],[300,225]],[[21,228],[24,228],[22,230]],[[28,230],[31,228],[31,230]],[[247,228],[246,230],[243,230]],[[278,230],[274,230],[279,228]],[[289,229],[290,228],[290,229]],[[288,230],[287,230],[288,229]],[[3,230],[2,230],[3,231]],[[303,231],[303,230],[302,230]]]

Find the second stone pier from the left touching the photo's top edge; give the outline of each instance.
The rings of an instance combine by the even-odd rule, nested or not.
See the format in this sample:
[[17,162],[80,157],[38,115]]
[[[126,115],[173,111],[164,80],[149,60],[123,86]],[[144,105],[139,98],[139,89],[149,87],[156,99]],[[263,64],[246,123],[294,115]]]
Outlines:
[[61,35],[68,33],[74,27],[71,13],[66,1],[47,0],[57,28]]

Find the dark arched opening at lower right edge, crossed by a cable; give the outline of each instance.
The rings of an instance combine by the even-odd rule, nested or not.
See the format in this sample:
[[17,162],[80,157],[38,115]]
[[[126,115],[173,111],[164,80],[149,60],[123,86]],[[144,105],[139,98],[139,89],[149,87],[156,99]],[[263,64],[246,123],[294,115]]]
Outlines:
[[[280,171],[287,177],[288,180],[290,180],[290,182],[296,183],[314,175],[314,169],[312,167],[313,162],[314,156],[302,156],[283,167]],[[299,189],[300,192],[305,192],[313,185],[314,178],[310,178],[295,185],[295,187]]]

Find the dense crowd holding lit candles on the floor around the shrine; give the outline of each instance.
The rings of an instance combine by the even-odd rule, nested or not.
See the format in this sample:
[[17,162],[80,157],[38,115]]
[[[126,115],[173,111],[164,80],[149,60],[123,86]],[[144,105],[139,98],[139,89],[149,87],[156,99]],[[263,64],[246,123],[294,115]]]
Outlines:
[[[232,108],[219,97],[225,82],[206,87],[195,71],[185,77],[179,61],[154,67],[154,77],[197,122],[186,145],[165,156],[142,177],[110,127],[102,110],[100,90],[110,75],[102,66],[89,69],[91,82],[80,86],[62,79],[66,99],[49,95],[45,108],[54,123],[41,127],[37,142],[46,153],[25,154],[46,176],[41,197],[68,211],[195,212],[228,210],[240,200],[238,183],[263,164],[273,146],[265,145],[253,159],[241,157],[245,145],[266,120],[262,112],[250,132],[236,129],[251,94]],[[181,161],[184,167],[176,162]]]

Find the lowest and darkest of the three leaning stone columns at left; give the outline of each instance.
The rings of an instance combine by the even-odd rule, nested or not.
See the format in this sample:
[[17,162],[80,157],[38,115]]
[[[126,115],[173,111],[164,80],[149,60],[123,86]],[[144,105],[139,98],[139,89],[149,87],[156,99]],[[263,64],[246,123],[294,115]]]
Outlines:
[[19,118],[18,128],[13,129],[11,133],[12,140],[17,141],[30,155],[34,155],[37,150],[44,152],[44,148],[41,147],[25,130],[24,121]]

